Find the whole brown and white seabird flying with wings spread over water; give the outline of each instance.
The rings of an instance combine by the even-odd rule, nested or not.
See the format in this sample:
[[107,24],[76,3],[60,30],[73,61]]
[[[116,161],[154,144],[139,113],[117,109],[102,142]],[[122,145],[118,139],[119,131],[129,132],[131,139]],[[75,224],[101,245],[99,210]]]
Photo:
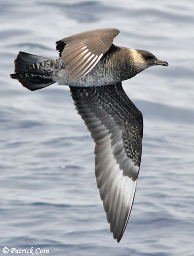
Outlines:
[[95,142],[95,175],[113,238],[125,231],[141,162],[143,118],[122,81],[151,66],[168,66],[145,50],[115,46],[115,28],[87,31],[56,42],[59,58],[19,52],[15,74],[30,90],[58,82],[70,87],[77,112]]

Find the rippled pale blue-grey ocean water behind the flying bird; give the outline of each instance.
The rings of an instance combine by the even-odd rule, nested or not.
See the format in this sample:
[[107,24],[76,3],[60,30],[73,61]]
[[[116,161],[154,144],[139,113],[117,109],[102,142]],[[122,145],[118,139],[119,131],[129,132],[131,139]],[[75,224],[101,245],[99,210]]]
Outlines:
[[[193,9],[192,0],[0,0],[1,255],[31,247],[52,256],[194,255]],[[31,92],[9,77],[18,51],[57,57],[57,40],[104,27],[120,29],[116,45],[169,62],[123,82],[143,113],[144,136],[119,244],[96,186],[94,143],[68,87]]]

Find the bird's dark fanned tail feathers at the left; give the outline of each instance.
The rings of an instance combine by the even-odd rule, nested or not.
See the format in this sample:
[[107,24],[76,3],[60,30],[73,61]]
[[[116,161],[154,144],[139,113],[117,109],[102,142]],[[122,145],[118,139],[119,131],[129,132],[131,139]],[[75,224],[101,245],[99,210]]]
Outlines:
[[19,52],[15,59],[15,74],[11,78],[17,79],[29,90],[38,90],[53,83],[53,79],[48,75],[48,69],[44,70],[44,61],[50,58],[41,57],[25,52]]

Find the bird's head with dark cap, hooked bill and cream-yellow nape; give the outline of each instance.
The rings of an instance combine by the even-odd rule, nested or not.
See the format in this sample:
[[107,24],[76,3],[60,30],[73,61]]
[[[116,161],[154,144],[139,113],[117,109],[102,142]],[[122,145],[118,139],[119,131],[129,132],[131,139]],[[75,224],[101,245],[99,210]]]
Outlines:
[[139,69],[139,72],[147,69],[151,66],[166,66],[168,67],[168,62],[165,60],[158,59],[151,52],[144,50],[130,49],[131,57],[133,59],[134,65]]

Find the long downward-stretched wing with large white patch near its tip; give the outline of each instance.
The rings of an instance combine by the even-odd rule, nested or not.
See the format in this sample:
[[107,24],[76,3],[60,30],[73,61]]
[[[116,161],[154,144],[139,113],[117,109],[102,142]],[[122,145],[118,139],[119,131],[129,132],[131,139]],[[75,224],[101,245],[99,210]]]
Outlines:
[[95,175],[107,221],[119,242],[125,231],[141,161],[143,119],[121,83],[70,87],[95,146]]

